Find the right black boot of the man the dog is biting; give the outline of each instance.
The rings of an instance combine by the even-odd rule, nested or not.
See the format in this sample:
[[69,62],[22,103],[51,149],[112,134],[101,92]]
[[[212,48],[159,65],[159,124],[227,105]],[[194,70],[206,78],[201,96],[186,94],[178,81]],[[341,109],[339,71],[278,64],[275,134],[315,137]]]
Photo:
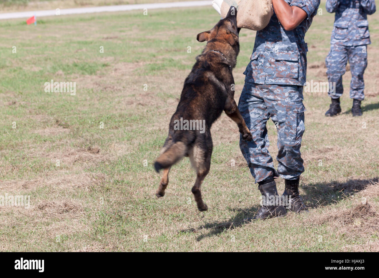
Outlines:
[[[285,189],[282,195],[282,199],[285,199],[286,208],[288,208],[291,211],[294,211],[296,213],[309,212],[309,210],[307,210],[307,207],[305,207],[303,200],[301,199],[299,195],[299,181],[300,181],[300,178],[297,178],[296,180],[284,180]],[[290,201],[290,204],[287,203],[289,201]],[[289,205],[291,205],[291,207],[289,207]]]

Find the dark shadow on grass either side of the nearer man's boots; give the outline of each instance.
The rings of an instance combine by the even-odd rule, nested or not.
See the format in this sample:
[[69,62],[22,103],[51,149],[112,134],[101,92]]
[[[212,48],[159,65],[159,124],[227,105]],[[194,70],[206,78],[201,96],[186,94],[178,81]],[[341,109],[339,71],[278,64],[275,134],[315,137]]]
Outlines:
[[[301,188],[305,192],[305,194],[303,193],[301,196],[307,207],[316,209],[338,203],[375,183],[378,183],[378,177],[371,179],[351,179],[344,183],[336,181],[308,183],[301,185]],[[249,224],[250,222],[244,219],[252,217],[258,209],[258,204],[251,208],[232,208],[231,210],[236,212],[236,215],[232,219],[226,219],[221,222],[208,222],[197,228],[182,230],[180,232],[199,232],[200,235],[197,236],[196,240],[201,241],[204,238]],[[207,229],[208,233],[202,233],[203,229]]]

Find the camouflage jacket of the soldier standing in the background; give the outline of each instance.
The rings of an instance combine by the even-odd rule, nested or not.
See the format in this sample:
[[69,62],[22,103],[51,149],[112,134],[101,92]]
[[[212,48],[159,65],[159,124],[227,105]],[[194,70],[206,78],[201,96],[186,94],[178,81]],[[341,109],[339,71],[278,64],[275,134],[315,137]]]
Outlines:
[[331,44],[370,44],[367,15],[376,10],[374,0],[326,0],[326,10],[335,12]]

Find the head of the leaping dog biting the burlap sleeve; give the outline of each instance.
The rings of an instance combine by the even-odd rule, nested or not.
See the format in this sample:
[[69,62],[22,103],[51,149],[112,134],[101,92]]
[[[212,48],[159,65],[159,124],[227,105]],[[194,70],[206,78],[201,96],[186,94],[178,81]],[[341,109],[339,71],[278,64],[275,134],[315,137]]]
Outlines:
[[238,40],[237,9],[231,6],[227,16],[221,19],[211,30],[197,34],[199,42],[207,41],[207,50],[218,50],[234,61],[240,52]]

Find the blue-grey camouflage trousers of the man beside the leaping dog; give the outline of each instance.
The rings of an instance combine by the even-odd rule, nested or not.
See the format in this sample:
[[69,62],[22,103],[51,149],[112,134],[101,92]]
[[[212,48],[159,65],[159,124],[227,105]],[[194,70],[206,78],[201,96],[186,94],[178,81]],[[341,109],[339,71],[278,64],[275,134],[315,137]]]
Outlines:
[[[238,109],[253,140],[245,141],[240,137],[240,148],[256,183],[270,176],[293,180],[304,172],[300,153],[305,130],[302,92],[303,87],[297,85],[245,82]],[[277,128],[278,170],[268,151],[266,123],[269,118]]]

